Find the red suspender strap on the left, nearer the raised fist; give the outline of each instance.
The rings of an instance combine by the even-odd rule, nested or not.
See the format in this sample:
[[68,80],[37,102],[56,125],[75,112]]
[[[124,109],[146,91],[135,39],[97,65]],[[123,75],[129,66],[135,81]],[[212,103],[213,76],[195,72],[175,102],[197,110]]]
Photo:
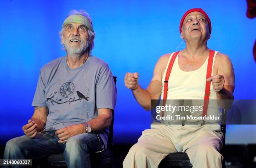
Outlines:
[[[166,98],[167,98],[167,90],[168,90],[168,80],[172,71],[172,66],[174,64],[174,61],[178,55],[179,51],[175,52],[171,58],[171,61],[169,63],[169,66],[167,68],[166,74],[165,74],[165,79],[164,79],[164,97],[163,97],[163,106],[165,106],[166,103]],[[164,111],[162,111],[162,117],[164,116]]]

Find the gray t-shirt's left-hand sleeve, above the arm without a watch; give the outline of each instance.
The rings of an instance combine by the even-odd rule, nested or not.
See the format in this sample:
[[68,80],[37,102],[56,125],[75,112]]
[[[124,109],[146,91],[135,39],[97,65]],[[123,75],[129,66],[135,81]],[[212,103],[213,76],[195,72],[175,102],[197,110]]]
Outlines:
[[46,107],[45,83],[42,78],[42,69],[39,74],[39,78],[36,86],[36,93],[34,95],[32,106]]

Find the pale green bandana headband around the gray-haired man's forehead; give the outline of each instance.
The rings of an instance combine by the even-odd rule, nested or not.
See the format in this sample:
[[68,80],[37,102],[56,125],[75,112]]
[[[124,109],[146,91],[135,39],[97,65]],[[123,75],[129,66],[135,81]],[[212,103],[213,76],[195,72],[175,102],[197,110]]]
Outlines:
[[69,17],[66,18],[66,20],[64,20],[62,24],[62,28],[64,28],[65,25],[67,25],[67,23],[70,23],[70,22],[81,23],[85,25],[90,31],[94,32],[90,21],[82,15],[70,15]]

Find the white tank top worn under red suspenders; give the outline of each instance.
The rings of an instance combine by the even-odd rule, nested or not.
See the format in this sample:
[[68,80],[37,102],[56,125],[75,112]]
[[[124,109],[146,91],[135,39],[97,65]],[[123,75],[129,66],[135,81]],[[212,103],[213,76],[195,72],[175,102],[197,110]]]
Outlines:
[[[213,56],[212,69],[215,63],[215,56],[217,53],[218,51],[215,51]],[[173,54],[174,53],[171,54],[168,60],[166,69],[164,71],[164,76],[162,79],[161,99],[163,99],[164,97],[164,79],[165,79],[166,71],[170,64]],[[208,64],[209,56],[205,60],[205,63],[195,71],[182,71],[179,68],[178,56],[174,61],[172,71],[169,77],[166,99],[167,101],[171,99],[174,100],[174,101],[171,101],[172,103],[174,103],[174,105],[176,104],[175,100],[182,100],[182,99],[193,100],[192,101],[193,105],[202,105],[204,102],[203,99],[205,96],[206,72],[207,72],[207,64]],[[212,87],[212,83],[210,87],[210,99],[217,99],[216,92],[213,90],[213,87]],[[180,114],[191,115],[195,117],[202,116],[202,112],[194,112],[194,113],[188,113],[188,114],[183,112]],[[168,115],[168,114],[165,113],[165,115]],[[207,116],[210,116],[210,115],[220,117],[220,120],[206,120],[205,123],[218,123],[221,121],[222,113],[215,100],[210,101],[208,104]],[[171,122],[169,122],[169,124],[172,122],[175,123],[180,121],[181,120],[172,120]],[[201,122],[201,120],[186,120],[186,122]]]

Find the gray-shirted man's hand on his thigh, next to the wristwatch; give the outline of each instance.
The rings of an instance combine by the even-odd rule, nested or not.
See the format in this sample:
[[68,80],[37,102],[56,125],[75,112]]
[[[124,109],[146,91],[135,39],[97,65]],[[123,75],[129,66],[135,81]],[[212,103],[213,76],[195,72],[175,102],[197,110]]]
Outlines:
[[59,143],[66,143],[67,140],[78,134],[85,133],[85,126],[83,124],[74,124],[67,127],[56,130],[56,134],[59,137]]

